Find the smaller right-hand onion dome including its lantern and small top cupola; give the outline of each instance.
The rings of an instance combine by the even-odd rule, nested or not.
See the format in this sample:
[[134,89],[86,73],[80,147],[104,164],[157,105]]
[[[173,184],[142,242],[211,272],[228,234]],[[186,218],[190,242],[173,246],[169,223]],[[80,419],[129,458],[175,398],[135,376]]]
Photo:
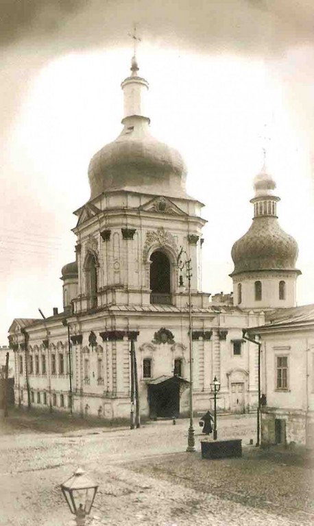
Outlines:
[[255,196],[253,223],[247,233],[237,240],[231,251],[234,271],[231,276],[250,271],[295,271],[298,244],[278,223],[274,196],[276,183],[265,168],[254,179]]

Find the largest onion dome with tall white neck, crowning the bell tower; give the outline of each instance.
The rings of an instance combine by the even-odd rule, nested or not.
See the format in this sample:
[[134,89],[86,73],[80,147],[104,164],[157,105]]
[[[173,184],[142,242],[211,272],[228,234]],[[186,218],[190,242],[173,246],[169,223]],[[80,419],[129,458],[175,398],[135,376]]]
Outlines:
[[131,71],[132,75],[121,84],[123,130],[116,140],[95,153],[88,167],[90,199],[122,188],[186,197],[186,166],[182,156],[150,134],[144,105],[148,83],[138,77],[134,57]]

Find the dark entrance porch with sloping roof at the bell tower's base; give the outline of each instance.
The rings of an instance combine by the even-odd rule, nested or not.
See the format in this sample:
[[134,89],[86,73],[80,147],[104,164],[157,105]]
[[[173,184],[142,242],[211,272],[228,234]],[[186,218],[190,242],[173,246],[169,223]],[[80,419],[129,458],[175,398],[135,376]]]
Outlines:
[[160,376],[148,384],[149,417],[178,417],[180,397],[189,381],[179,376]]

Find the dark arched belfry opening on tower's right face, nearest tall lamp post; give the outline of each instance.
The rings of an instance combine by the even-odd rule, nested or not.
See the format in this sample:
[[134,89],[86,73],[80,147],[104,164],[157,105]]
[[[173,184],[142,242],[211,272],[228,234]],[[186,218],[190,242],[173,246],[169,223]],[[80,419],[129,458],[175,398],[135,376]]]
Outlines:
[[156,250],[150,257],[151,303],[171,303],[170,262],[167,255]]

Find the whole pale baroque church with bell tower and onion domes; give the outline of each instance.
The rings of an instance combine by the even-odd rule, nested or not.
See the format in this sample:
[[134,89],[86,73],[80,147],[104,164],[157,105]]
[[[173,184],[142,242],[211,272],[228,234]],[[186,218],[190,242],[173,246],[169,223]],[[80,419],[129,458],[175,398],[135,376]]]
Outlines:
[[63,312],[15,318],[10,327],[19,405],[29,392],[38,406],[129,416],[132,344],[141,414],[188,414],[190,289],[195,411],[212,407],[215,376],[220,410],[256,409],[258,350],[242,329],[263,325],[269,309],[295,305],[298,247],[278,225],[275,184],[262,172],[252,227],[232,249],[234,305],[209,301],[201,283],[204,205],[186,194],[180,153],[151,134],[148,87],[133,58],[121,84],[123,129],[90,161],[90,198],[75,211],[76,259],[62,268]]

